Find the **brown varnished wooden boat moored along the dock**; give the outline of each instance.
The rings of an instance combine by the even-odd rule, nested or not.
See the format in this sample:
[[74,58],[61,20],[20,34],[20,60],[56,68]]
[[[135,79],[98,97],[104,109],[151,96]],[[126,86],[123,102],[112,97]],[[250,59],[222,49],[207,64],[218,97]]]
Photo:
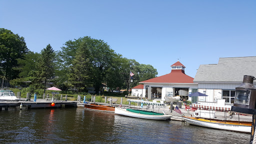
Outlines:
[[98,110],[98,111],[106,111],[106,112],[114,112],[114,106],[111,105],[99,105],[99,104],[92,104],[92,103],[84,103],[85,109],[90,110]]

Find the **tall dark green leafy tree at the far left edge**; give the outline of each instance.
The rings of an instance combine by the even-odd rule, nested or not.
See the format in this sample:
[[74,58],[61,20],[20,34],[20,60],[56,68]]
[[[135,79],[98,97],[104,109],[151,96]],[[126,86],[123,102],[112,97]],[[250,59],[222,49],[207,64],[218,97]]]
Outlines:
[[17,58],[23,58],[27,53],[24,37],[14,34],[8,29],[0,28],[0,74],[10,80],[18,76]]

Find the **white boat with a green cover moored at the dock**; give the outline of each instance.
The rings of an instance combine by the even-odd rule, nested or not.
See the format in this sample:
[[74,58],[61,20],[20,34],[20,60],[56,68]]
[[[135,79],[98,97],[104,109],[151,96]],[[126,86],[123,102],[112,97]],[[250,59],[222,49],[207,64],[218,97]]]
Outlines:
[[166,120],[171,117],[171,115],[167,115],[164,113],[139,110],[139,109],[120,108],[120,107],[115,107],[114,113],[125,115],[125,116],[136,117],[136,118],[153,119],[153,120]]

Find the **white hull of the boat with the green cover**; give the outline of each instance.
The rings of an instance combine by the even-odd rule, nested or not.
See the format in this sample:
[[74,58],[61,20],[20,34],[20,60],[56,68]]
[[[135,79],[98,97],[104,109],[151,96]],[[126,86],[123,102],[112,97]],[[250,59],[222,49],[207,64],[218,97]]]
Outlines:
[[125,116],[131,116],[131,117],[136,117],[136,118],[144,118],[144,119],[153,119],[153,120],[166,120],[171,117],[171,115],[147,115],[147,114],[140,114],[140,113],[134,113],[127,111],[125,108],[119,108],[115,107],[114,113],[120,114],[120,115],[125,115]]

